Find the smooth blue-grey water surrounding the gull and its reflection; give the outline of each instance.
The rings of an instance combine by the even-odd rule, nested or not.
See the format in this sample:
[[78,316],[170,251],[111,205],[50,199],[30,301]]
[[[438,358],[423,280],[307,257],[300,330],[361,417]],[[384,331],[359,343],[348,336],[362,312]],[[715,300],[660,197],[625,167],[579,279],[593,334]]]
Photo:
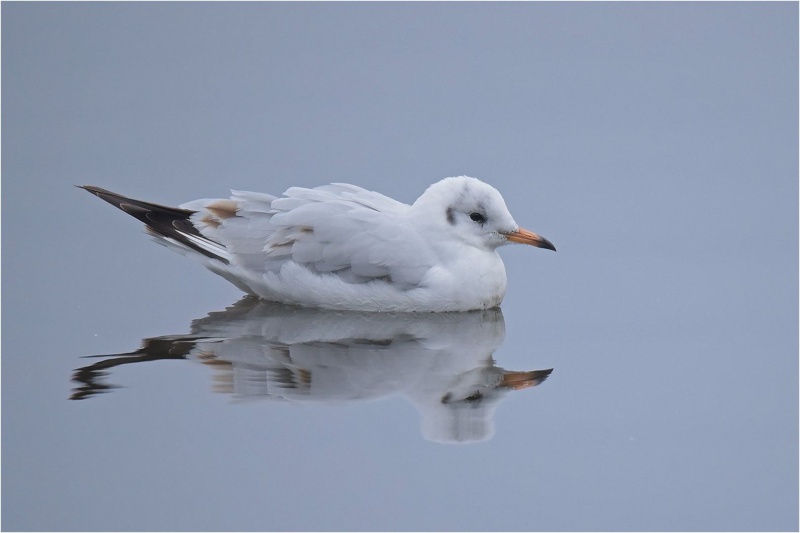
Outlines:
[[[72,185],[158,203],[497,187],[497,436],[400,397],[234,404],[92,353],[239,292]],[[5,530],[797,530],[798,4],[2,4]]]

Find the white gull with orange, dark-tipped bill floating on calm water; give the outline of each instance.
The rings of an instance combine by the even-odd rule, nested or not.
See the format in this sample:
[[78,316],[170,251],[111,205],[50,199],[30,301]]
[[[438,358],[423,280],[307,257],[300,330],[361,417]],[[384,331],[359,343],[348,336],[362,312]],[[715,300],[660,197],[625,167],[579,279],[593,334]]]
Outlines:
[[93,185],[145,223],[154,241],[262,300],[352,311],[447,312],[498,307],[512,242],[555,251],[520,228],[491,185],[447,177],[413,205],[355,185],[291,187],[283,197],[232,190],[177,208]]

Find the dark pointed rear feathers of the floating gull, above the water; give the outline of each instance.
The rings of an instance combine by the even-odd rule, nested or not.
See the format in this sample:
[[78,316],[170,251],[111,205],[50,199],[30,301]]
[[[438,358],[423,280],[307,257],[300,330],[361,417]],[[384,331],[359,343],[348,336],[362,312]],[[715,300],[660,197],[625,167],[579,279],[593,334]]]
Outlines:
[[94,185],[76,186],[86,189],[101,200],[122,209],[138,221],[144,222],[145,229],[149,233],[157,237],[164,237],[168,241],[177,242],[187,249],[202,253],[202,255],[221,261],[226,265],[230,264],[228,258],[225,257],[225,246],[204,237],[190,221],[189,217],[196,211],[135,200]]

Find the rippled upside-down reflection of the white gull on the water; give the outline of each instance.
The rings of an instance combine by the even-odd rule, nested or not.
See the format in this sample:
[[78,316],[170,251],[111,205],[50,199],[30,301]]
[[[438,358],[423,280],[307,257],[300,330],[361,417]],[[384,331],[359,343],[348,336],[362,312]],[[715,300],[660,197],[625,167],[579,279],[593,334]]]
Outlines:
[[422,415],[438,442],[486,440],[508,392],[533,387],[552,368],[508,372],[492,353],[502,344],[499,309],[473,312],[348,312],[259,303],[246,297],[194,320],[185,336],[143,341],[136,352],[79,368],[72,399],[112,387],[99,383],[119,364],[193,359],[216,371],[214,390],[238,400],[341,405],[392,394]]

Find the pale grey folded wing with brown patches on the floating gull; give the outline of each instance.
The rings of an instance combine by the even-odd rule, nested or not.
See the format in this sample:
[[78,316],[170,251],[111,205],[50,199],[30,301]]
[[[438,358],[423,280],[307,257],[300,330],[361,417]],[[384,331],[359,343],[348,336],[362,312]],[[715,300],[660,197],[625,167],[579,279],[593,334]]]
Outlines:
[[382,279],[414,288],[434,264],[410,225],[409,205],[333,184],[293,187],[284,197],[232,191],[230,200],[198,200],[182,209],[202,236],[223,245],[231,265],[278,272],[286,261],[347,283]]

